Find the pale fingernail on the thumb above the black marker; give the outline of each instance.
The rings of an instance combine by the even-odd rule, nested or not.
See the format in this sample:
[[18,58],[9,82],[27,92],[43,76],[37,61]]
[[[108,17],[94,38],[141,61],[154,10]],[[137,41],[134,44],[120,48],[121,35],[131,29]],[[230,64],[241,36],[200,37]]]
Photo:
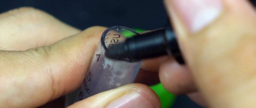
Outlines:
[[171,15],[177,14],[192,33],[213,22],[223,9],[221,0],[166,0],[165,4],[168,12]]

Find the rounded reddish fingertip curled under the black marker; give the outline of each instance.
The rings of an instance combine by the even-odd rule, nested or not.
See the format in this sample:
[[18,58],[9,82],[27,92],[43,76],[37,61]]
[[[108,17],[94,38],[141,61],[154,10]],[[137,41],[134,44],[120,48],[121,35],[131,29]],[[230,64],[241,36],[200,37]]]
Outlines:
[[172,57],[161,65],[159,78],[163,86],[176,95],[197,90],[187,66],[180,65]]

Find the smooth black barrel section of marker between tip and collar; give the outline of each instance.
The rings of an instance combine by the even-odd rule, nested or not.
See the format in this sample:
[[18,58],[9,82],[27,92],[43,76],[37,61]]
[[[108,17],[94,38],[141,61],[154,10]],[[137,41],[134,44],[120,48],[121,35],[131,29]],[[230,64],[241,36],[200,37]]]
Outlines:
[[125,41],[127,53],[134,61],[166,55],[167,43],[164,35],[165,29],[160,28],[128,38]]

